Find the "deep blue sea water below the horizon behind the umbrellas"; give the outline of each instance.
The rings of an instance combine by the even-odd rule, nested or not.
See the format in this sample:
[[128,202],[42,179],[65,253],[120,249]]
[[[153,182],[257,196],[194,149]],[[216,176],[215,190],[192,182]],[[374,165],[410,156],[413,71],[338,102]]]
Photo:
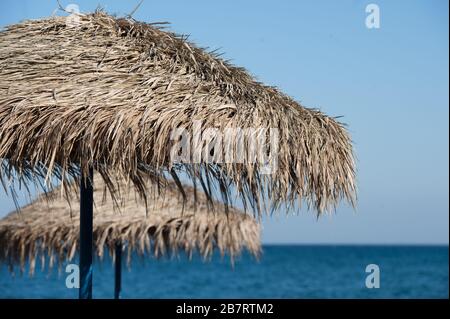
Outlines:
[[[366,265],[380,267],[379,289],[367,289]],[[242,256],[234,269],[216,256],[133,258],[123,298],[448,298],[448,246],[265,246],[259,262]],[[76,298],[64,272],[12,277],[0,268],[0,298]],[[94,267],[94,298],[113,295],[111,260]]]

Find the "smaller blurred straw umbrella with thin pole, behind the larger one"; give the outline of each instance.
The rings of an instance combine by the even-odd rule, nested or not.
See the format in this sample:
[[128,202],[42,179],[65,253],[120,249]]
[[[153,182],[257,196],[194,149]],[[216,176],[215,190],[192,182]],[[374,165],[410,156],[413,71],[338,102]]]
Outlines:
[[[184,201],[177,187],[168,184],[164,196],[155,196],[152,201],[152,213],[146,214],[145,203],[133,189],[114,205],[98,176],[94,185],[95,255],[102,258],[106,248],[114,259],[115,298],[121,290],[123,248],[128,263],[133,252],[159,257],[184,251],[191,257],[197,251],[207,259],[217,249],[232,261],[243,249],[255,257],[260,253],[260,226],[254,218],[234,208],[228,214],[218,212],[223,208],[220,203],[210,212],[213,208],[206,196],[199,192],[195,202],[189,186],[184,186],[188,198]],[[0,220],[0,262],[11,270],[19,264],[23,271],[28,260],[33,274],[36,260],[42,260],[42,268],[46,258],[50,268],[71,261],[78,248],[79,214],[70,208],[76,202],[76,198],[62,199],[55,190]],[[115,212],[117,207],[122,212]]]

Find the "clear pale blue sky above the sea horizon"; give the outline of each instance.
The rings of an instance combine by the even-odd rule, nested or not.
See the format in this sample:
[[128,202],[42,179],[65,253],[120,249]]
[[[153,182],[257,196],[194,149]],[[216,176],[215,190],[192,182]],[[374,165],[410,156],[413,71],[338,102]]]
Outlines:
[[[61,2],[117,15],[138,3]],[[380,7],[380,29],[365,27],[369,3]],[[0,26],[56,8],[56,0],[1,1]],[[357,210],[271,218],[266,243],[448,244],[447,1],[145,0],[134,17],[169,21],[305,106],[344,115],[358,158]],[[13,208],[0,192],[0,216]]]

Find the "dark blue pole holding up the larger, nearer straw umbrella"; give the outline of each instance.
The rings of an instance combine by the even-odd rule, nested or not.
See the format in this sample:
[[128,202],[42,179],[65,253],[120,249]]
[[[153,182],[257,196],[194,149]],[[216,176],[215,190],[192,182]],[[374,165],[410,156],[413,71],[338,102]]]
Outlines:
[[92,299],[93,170],[80,182],[80,299]]

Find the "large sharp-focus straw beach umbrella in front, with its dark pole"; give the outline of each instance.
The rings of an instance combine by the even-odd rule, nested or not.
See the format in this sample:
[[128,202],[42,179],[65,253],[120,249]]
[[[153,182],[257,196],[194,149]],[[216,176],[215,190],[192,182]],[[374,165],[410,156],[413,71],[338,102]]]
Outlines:
[[[352,144],[336,119],[160,25],[103,12],[76,18],[75,25],[52,17],[0,32],[0,158],[5,185],[52,174],[63,189],[67,180],[80,182],[82,281],[90,282],[93,169],[112,193],[125,178],[144,198],[143,176],[159,183],[170,175],[183,193],[178,176],[186,173],[208,198],[215,186],[228,206],[235,190],[257,214],[296,202],[318,214],[341,199],[354,203]],[[174,130],[193,132],[197,121],[201,133],[275,128],[276,170],[264,173],[251,152],[239,161],[174,163]],[[236,151],[241,140],[227,147]]]

